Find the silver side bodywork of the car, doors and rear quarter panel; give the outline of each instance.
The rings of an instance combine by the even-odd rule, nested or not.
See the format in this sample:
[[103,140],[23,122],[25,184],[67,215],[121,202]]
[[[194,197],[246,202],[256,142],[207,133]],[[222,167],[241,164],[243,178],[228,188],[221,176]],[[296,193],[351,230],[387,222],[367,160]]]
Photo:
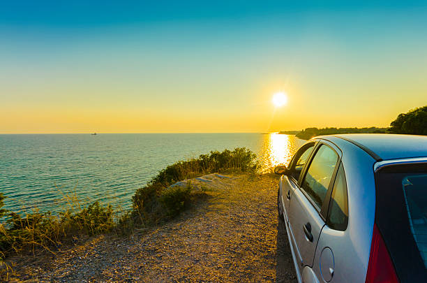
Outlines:
[[[304,278],[304,274],[313,273],[319,282],[324,282],[320,273],[320,255],[325,247],[329,247],[334,254],[334,276],[330,282],[364,282],[375,222],[375,179],[373,175],[375,159],[357,145],[338,137],[328,136],[327,139],[319,137],[315,138],[315,141],[329,145],[340,155],[347,180],[349,220],[345,231],[335,231],[324,225],[324,220],[319,215],[318,210],[315,210],[301,189],[287,176],[280,178],[283,212],[294,223],[297,223],[294,224],[297,226],[294,228],[290,225],[291,221],[285,222],[287,231],[291,234],[288,235],[288,238],[290,238],[293,249],[292,256],[298,263],[296,266],[297,275]],[[305,173],[304,170],[301,173],[302,175]],[[302,176],[299,182],[301,180]],[[293,191],[291,201],[287,201],[285,195],[287,189]],[[297,200],[292,204],[294,199]],[[299,207],[296,209],[298,215],[293,212],[293,215],[290,215],[290,206],[292,205]],[[297,220],[297,218],[299,219]],[[313,257],[307,259],[310,257],[310,248],[303,246],[298,249],[296,246],[296,242],[301,242],[301,239],[306,240],[302,227],[299,226],[308,219],[315,223],[316,228],[315,231],[313,230],[313,236],[314,238],[318,237],[317,245],[313,245],[315,249],[314,259]],[[301,256],[299,256],[299,252]],[[310,268],[310,273],[308,273],[308,271],[304,271],[304,266],[312,266],[313,268]],[[348,268],[348,266],[352,266],[352,268]]]

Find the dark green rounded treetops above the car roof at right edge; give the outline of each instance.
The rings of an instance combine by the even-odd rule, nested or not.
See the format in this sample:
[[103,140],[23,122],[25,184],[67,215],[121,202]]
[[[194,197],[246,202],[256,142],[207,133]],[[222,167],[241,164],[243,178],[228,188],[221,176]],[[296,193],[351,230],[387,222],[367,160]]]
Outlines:
[[390,126],[391,133],[427,135],[427,106],[399,114]]

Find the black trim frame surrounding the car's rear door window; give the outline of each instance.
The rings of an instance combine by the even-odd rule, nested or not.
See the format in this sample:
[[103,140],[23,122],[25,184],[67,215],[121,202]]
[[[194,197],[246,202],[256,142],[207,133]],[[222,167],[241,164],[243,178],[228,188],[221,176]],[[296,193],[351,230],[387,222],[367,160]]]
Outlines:
[[[313,161],[313,158],[315,157],[315,154],[317,153],[317,151],[320,149],[320,147],[322,145],[326,145],[327,147],[331,148],[331,150],[334,150],[334,152],[336,153],[336,155],[338,157],[338,160],[336,161],[334,172],[332,173],[331,181],[329,182],[327,195],[324,197],[324,201],[322,203],[322,208],[319,208],[319,206],[313,201],[311,196],[309,196],[308,193],[302,188],[302,182],[303,182],[304,178],[306,177],[307,170],[310,167],[311,162]],[[308,201],[310,201],[311,205],[313,205],[313,208],[315,208],[315,210],[317,210],[317,212],[320,215],[320,218],[322,218],[322,220],[325,223],[327,222],[329,201],[331,199],[332,189],[334,187],[336,174],[338,173],[338,168],[339,168],[340,162],[341,162],[341,156],[340,156],[340,154],[338,154],[338,152],[333,147],[331,147],[327,143],[322,143],[322,141],[317,141],[317,143],[315,144],[315,148],[311,152],[310,157],[308,158],[308,161],[307,161],[306,165],[304,166],[304,169],[301,171],[301,175],[299,175],[298,189],[304,194],[304,196],[306,196]]]

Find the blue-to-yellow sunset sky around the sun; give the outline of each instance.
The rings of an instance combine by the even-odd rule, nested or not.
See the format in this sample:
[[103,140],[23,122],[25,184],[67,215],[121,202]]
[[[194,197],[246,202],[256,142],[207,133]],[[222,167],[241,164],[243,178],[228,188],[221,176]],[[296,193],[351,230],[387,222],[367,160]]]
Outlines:
[[2,1],[0,133],[385,127],[427,105],[426,27],[422,1]]

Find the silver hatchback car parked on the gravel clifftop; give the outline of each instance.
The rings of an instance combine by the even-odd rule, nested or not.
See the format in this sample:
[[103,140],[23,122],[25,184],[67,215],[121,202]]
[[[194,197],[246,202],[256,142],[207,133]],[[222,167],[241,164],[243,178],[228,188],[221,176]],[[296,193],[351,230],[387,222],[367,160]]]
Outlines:
[[319,136],[275,173],[298,282],[427,282],[427,136]]

